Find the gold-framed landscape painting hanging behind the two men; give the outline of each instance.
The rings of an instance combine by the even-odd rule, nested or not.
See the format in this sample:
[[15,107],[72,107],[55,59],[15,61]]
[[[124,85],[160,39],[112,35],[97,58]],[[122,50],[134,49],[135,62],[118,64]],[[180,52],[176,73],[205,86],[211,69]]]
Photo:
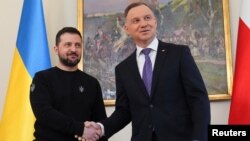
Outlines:
[[[83,70],[102,87],[105,105],[114,105],[115,66],[134,50],[125,33],[123,10],[138,0],[78,0],[83,33]],[[158,20],[157,38],[188,45],[205,81],[210,100],[232,93],[232,55],[228,0],[144,0]]]

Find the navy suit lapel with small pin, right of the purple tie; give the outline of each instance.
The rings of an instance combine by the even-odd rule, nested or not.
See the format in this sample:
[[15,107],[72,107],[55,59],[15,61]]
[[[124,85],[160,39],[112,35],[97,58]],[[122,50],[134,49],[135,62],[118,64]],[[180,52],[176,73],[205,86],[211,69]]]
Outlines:
[[159,76],[162,71],[163,64],[165,62],[165,57],[167,54],[167,48],[164,47],[163,43],[159,41],[158,49],[157,49],[157,55],[155,59],[155,66],[153,70],[153,80],[152,80],[152,92],[151,92],[151,97],[154,95]]

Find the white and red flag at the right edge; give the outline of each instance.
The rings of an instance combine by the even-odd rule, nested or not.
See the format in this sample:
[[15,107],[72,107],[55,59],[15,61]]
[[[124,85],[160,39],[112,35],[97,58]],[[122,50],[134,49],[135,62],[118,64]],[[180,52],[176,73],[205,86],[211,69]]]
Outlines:
[[241,1],[229,124],[250,125],[250,0]]

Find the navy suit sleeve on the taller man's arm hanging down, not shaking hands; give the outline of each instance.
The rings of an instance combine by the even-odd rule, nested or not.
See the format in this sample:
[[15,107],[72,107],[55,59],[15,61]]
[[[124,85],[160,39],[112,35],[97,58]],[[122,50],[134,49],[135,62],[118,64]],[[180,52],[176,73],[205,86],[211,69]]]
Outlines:
[[181,67],[182,81],[192,114],[193,139],[206,141],[211,118],[210,103],[202,76],[188,47],[184,47],[182,51]]

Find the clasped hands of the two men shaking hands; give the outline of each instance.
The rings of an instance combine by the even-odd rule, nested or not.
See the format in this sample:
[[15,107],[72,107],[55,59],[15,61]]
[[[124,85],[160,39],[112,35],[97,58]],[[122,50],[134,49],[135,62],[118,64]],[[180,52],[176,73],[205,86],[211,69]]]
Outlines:
[[84,122],[83,135],[75,135],[79,141],[97,141],[103,136],[102,127],[100,124],[93,121]]

